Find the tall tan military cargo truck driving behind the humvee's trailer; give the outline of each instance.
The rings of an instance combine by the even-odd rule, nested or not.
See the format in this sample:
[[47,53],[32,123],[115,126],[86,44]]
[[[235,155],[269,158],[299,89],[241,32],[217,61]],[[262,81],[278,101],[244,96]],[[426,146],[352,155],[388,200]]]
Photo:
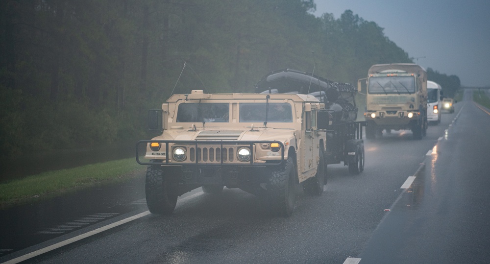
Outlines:
[[361,93],[366,81],[366,138],[383,130],[410,129],[420,140],[427,132],[427,72],[417,64],[371,66],[368,77],[358,81]]

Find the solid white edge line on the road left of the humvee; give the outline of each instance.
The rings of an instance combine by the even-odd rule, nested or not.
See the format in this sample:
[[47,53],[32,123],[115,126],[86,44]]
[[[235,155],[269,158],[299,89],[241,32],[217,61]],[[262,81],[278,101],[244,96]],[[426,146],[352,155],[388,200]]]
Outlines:
[[146,212],[143,212],[141,214],[138,214],[136,216],[131,216],[131,217],[128,217],[128,218],[125,218],[123,220],[119,220],[115,223],[112,223],[112,224],[109,224],[109,225],[106,225],[106,226],[103,226],[103,227],[100,227],[100,228],[97,228],[95,230],[92,230],[92,231],[89,231],[85,234],[81,234],[79,236],[76,236],[74,238],[71,238],[71,239],[67,239],[65,241],[61,241],[61,242],[58,242],[56,244],[53,244],[53,245],[50,245],[50,246],[47,246],[45,248],[41,248],[39,250],[36,250],[34,252],[31,252],[31,253],[28,253],[28,254],[25,254],[24,256],[20,256],[18,258],[15,258],[15,259],[12,259],[12,260],[9,260],[7,262],[4,262],[4,264],[15,264],[15,263],[19,263],[19,262],[22,262],[22,261],[25,261],[25,260],[28,260],[30,258],[34,258],[36,256],[39,256],[41,254],[44,254],[46,252],[49,252],[51,250],[54,250],[54,249],[57,249],[57,248],[60,248],[62,246],[65,246],[65,245],[68,245],[68,244],[71,244],[73,242],[76,242],[78,240],[82,240],[82,239],[85,239],[85,238],[88,238],[90,236],[93,236],[93,235],[96,235],[98,233],[101,233],[103,231],[106,231],[106,230],[109,230],[111,228],[114,228],[116,226],[120,226],[122,224],[125,224],[127,222],[130,222],[130,221],[133,221],[133,220],[136,220],[138,218],[141,218],[143,216],[147,216],[149,215],[150,212],[149,211],[146,211]]

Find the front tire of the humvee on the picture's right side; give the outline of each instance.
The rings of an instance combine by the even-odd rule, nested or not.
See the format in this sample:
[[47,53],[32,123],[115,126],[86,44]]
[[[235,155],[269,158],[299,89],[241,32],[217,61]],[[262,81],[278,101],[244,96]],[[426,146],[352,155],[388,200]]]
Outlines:
[[269,177],[269,204],[274,216],[291,216],[296,202],[296,166],[291,155],[284,165],[272,169]]

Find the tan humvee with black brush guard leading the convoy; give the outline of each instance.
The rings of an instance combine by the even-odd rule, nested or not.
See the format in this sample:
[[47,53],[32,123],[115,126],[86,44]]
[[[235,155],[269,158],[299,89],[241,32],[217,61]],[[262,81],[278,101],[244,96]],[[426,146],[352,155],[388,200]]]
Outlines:
[[170,214],[179,195],[202,187],[240,188],[265,197],[275,215],[294,210],[295,186],[321,195],[329,114],[314,96],[299,94],[173,95],[150,111],[162,135],[147,144],[147,206]]

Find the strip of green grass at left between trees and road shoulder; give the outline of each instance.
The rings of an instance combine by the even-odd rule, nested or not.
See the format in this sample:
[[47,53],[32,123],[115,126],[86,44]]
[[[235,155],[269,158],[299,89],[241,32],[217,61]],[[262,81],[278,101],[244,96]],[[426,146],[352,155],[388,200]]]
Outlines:
[[0,207],[23,203],[33,197],[61,194],[103,183],[134,179],[146,171],[134,158],[54,170],[0,184]]

